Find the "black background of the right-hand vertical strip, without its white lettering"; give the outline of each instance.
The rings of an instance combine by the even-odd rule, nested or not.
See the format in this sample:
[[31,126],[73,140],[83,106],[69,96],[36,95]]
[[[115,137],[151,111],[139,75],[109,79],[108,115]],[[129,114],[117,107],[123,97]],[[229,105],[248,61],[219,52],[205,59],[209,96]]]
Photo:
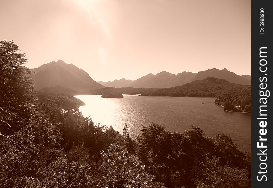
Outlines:
[[[272,1],[268,0],[255,0],[251,1],[251,96],[252,96],[252,107],[251,107],[251,186],[252,187],[261,187],[261,188],[271,188],[273,187],[273,167],[272,167],[272,160],[273,160],[273,152],[272,152],[272,119],[273,119],[273,113],[271,108],[272,106],[272,97],[273,91],[272,91],[272,74],[273,74],[273,59],[272,59],[272,38],[273,38],[273,30],[272,30],[272,24],[273,24],[273,19],[272,19],[272,13],[273,13],[273,6],[272,6]],[[271,6],[270,6],[271,4]],[[264,8],[264,26],[260,26],[260,9]],[[260,33],[260,29],[264,28],[265,32],[264,34]],[[271,39],[270,39],[271,38]],[[260,72],[260,60],[264,58],[260,58],[260,48],[261,47],[266,47],[267,51],[267,71],[266,72]],[[263,67],[264,68],[264,67]],[[260,163],[262,163],[259,159],[261,155],[257,155],[260,153],[259,149],[263,148],[257,148],[257,142],[259,142],[259,136],[260,136],[260,77],[263,78],[266,75],[267,77],[267,88],[265,90],[270,91],[270,96],[266,97],[267,98],[267,107],[266,107],[266,113],[267,116],[264,116],[267,118],[267,126],[265,127],[267,129],[267,134],[263,136],[264,138],[267,138],[267,141],[264,142],[264,145],[267,145],[266,150],[266,156],[267,159],[265,161],[267,167],[265,170],[267,170],[266,175],[267,180],[265,181],[265,177],[261,180],[257,180],[257,175],[259,175],[259,170],[260,170]],[[265,91],[264,90],[264,91]],[[272,92],[271,92],[272,91]],[[265,105],[265,104],[264,104]],[[261,142],[261,141],[260,141]],[[265,155],[263,155],[264,157]],[[262,159],[264,159],[262,157]],[[263,164],[264,165],[264,164]],[[264,167],[262,165],[262,167]],[[261,170],[263,171],[263,170]],[[259,175],[259,178],[262,176]]]

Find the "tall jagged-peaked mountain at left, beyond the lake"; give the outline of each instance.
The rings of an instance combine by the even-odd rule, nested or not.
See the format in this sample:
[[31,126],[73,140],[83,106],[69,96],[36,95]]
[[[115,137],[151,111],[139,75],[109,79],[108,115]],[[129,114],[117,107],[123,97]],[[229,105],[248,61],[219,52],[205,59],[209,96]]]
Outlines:
[[66,87],[80,92],[104,88],[103,85],[94,81],[87,72],[62,60],[51,61],[31,70],[34,72],[30,76],[37,91],[54,86]]

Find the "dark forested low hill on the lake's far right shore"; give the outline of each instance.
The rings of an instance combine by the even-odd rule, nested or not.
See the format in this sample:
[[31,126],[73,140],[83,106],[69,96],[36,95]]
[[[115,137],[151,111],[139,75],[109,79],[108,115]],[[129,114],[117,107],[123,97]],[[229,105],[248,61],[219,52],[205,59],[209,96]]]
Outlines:
[[233,112],[251,112],[251,85],[229,83],[207,77],[183,86],[163,88],[141,93],[142,96],[217,97],[215,104]]

